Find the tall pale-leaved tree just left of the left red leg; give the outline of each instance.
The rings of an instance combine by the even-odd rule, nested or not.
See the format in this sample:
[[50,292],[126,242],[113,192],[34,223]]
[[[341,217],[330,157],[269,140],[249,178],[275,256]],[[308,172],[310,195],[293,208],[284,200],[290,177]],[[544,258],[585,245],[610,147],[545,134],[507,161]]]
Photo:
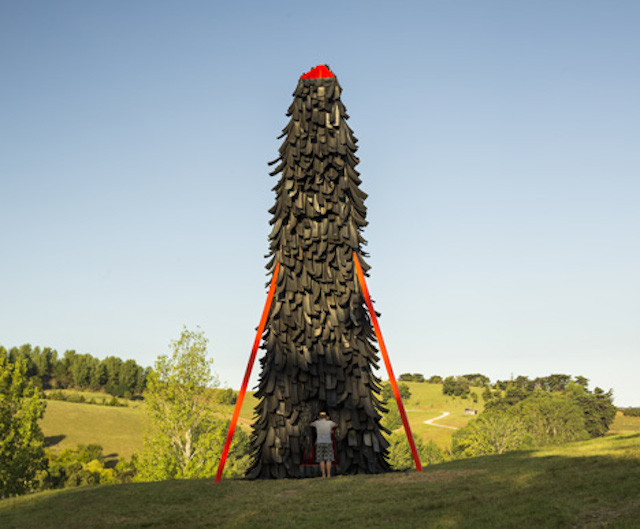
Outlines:
[[[140,456],[140,480],[203,478],[215,473],[227,423],[215,417],[210,388],[218,380],[211,372],[207,343],[201,331],[184,328],[180,338],[171,342],[171,356],[159,356],[149,375],[145,399],[149,428]],[[246,447],[246,434],[236,434],[231,459],[242,452],[243,442]]]

